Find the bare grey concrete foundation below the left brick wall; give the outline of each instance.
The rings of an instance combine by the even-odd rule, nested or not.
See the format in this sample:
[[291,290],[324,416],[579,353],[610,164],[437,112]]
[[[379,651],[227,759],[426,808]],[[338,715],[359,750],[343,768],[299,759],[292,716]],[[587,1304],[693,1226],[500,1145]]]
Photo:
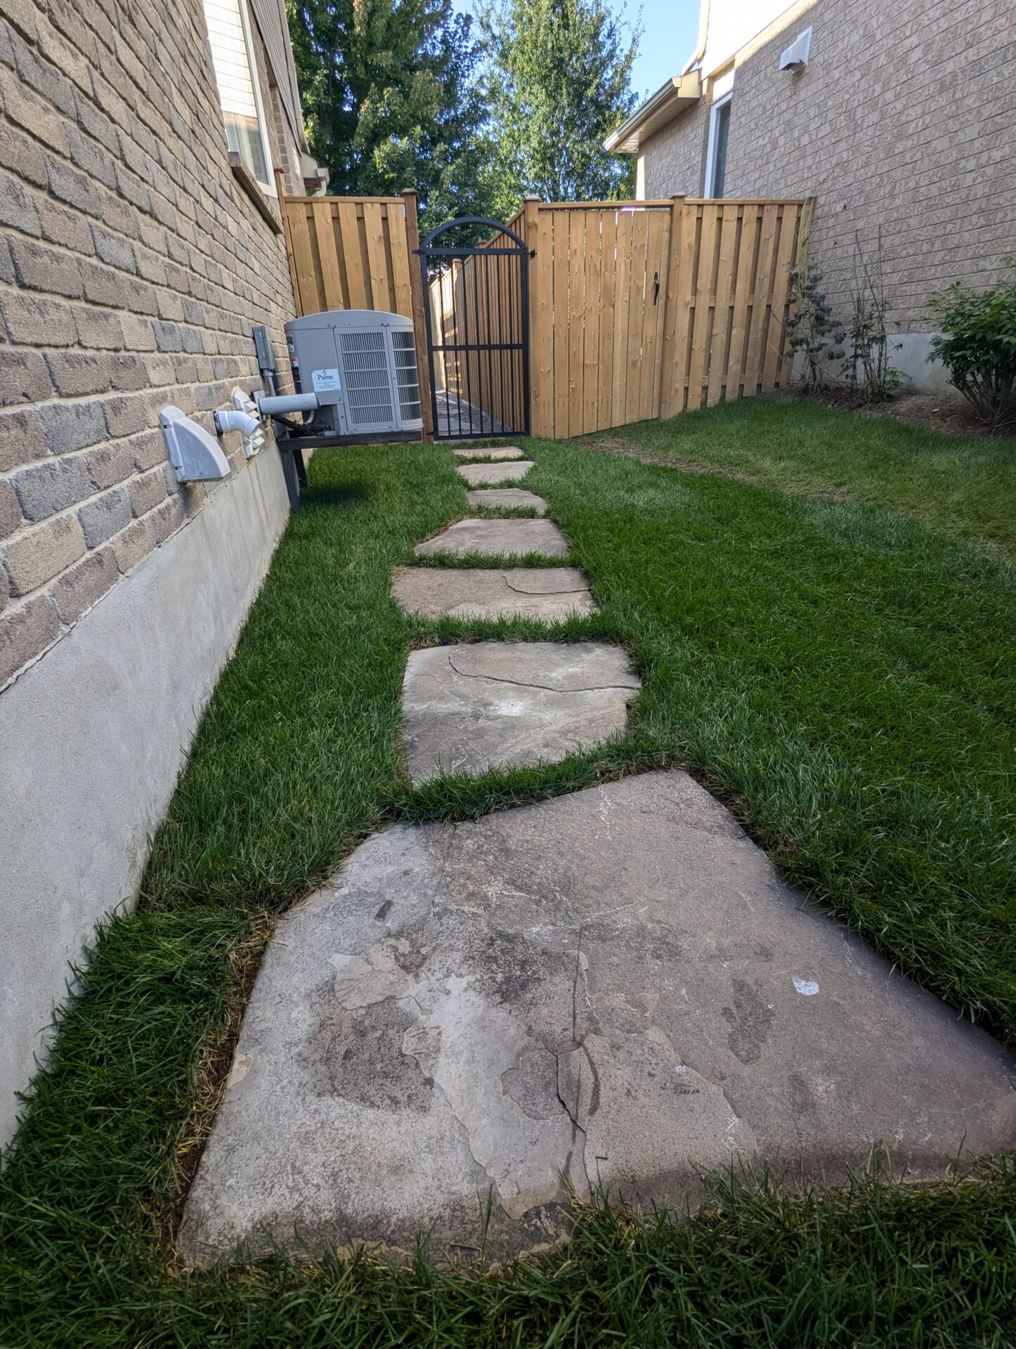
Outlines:
[[0,1141],[70,962],[138,894],[150,838],[289,511],[252,460],[0,697]]

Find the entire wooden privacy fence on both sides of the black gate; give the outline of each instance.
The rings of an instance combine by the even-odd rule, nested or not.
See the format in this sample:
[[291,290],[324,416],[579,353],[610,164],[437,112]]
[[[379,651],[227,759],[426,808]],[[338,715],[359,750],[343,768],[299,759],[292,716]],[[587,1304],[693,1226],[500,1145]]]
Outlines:
[[[494,268],[480,247],[433,275],[425,295],[416,193],[279,200],[300,314],[413,318],[428,434],[425,304],[445,348],[434,352],[437,386],[511,429],[525,425],[518,259]],[[789,271],[810,210],[799,198],[526,201],[507,225],[529,255],[532,433],[580,436],[785,383]],[[506,243],[497,235],[486,246]],[[498,343],[519,351],[495,370],[486,348]],[[447,351],[459,345],[471,349]]]

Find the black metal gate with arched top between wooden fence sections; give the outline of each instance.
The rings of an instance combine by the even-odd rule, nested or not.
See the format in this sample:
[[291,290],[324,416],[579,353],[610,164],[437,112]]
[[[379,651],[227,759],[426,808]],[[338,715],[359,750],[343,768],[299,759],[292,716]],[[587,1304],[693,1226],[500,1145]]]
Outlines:
[[[491,232],[476,244],[453,240]],[[441,236],[448,243],[439,243]],[[529,434],[529,254],[507,225],[463,216],[420,244],[437,440]]]

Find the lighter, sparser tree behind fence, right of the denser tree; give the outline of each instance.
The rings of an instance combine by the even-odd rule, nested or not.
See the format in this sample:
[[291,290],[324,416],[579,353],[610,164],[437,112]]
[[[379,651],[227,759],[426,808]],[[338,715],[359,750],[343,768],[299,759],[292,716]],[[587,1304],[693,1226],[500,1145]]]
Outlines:
[[603,139],[634,109],[638,32],[606,0],[482,0],[495,210],[631,196],[633,161]]

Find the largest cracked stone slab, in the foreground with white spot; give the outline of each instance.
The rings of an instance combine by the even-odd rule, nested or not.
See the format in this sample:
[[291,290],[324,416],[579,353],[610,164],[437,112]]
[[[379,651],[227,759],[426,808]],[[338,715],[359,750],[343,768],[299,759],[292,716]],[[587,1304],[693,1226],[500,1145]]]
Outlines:
[[[279,920],[179,1232],[434,1259],[553,1240],[565,1182],[700,1197],[770,1159],[915,1178],[1016,1139],[1012,1058],[653,772],[399,824]],[[486,1222],[488,1213],[488,1224]]]

